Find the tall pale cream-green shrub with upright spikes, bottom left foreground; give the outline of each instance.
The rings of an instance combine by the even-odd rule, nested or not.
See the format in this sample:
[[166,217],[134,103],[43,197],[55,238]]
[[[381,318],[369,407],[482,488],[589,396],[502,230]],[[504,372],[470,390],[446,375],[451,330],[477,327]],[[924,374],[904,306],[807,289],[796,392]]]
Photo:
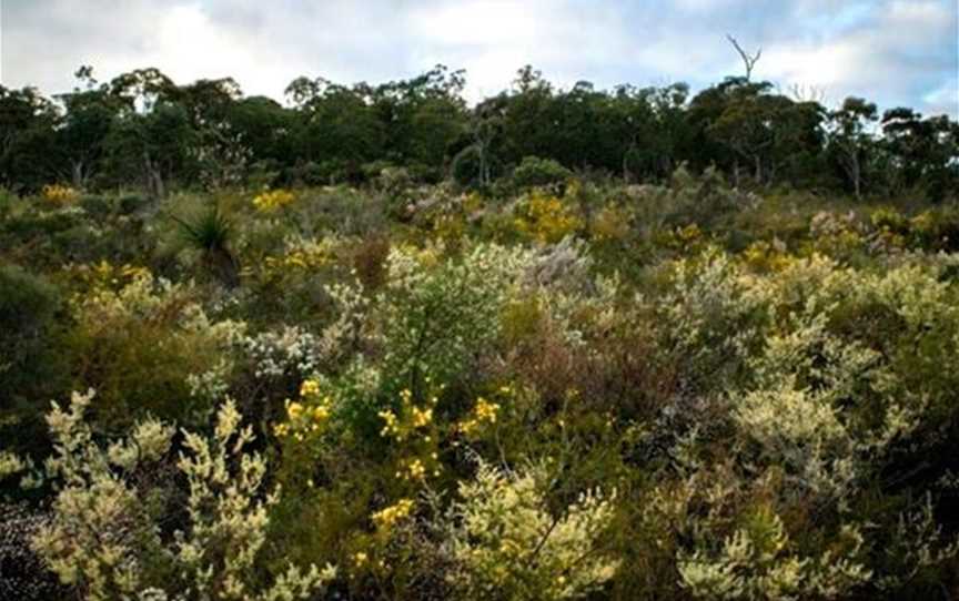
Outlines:
[[[305,599],[333,578],[332,568],[291,566],[265,590],[258,590],[255,561],[269,526],[267,509],[279,491],[261,497],[266,465],[244,446],[232,401],[216,416],[211,439],[184,431],[178,467],[189,482],[189,526],[169,544],[158,527],[162,516],[150,502],[162,490],[138,487],[131,476],[157,466],[169,454],[173,428],[148,419],[104,450],[93,440],[84,410],[93,393],[74,394],[69,409],[54,404],[48,424],[54,455],[47,476],[58,486],[52,518],[33,540],[34,549],[63,583],[85,599]],[[175,579],[164,579],[164,567]]]

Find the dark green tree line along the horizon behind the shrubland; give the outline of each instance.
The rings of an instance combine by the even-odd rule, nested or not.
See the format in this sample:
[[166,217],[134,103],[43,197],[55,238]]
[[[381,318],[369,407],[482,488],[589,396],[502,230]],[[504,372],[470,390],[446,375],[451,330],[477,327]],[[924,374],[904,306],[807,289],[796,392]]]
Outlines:
[[[758,55],[757,55],[758,58]],[[735,185],[851,195],[959,187],[959,124],[849,98],[829,109],[767,81],[562,89],[524,67],[509,90],[470,105],[463,71],[344,85],[301,77],[286,103],[231,78],[176,84],[158,69],[109,82],[80,68],[70,93],[0,86],[0,185],[77,189],[360,184],[388,166],[421,182],[489,185],[524,157],[628,182],[679,165]]]

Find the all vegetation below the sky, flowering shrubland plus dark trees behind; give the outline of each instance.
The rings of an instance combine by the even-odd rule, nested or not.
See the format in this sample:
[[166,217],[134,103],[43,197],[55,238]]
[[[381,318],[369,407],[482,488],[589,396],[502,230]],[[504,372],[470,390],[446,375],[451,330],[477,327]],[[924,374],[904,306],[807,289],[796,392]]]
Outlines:
[[949,116],[75,75],[0,86],[0,600],[959,598]]

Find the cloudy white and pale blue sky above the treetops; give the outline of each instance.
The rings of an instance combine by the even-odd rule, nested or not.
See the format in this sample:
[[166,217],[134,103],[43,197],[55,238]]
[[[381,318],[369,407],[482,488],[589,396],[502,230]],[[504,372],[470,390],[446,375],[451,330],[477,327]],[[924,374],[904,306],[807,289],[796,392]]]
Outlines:
[[157,67],[282,100],[300,75],[378,83],[443,63],[473,101],[524,64],[559,86],[698,90],[743,73],[727,33],[761,48],[754,79],[784,93],[959,118],[959,0],[0,0],[0,83],[52,94],[81,64],[101,80]]

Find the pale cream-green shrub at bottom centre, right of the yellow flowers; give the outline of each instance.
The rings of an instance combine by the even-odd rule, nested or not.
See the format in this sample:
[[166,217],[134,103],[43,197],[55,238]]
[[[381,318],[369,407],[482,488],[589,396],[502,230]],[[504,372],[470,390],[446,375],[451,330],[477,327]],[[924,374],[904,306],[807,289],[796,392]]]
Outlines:
[[480,465],[460,483],[446,540],[466,599],[578,599],[613,578],[618,561],[599,548],[615,493],[587,491],[562,515],[547,508],[545,470]]

